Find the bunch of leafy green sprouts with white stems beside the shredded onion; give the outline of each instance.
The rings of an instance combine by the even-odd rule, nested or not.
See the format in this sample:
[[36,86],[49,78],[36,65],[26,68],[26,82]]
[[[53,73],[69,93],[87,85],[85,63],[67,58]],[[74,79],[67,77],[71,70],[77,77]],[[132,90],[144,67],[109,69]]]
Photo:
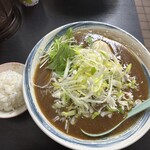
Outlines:
[[79,48],[79,46],[74,43],[76,43],[76,41],[72,35],[72,29],[69,29],[64,36],[54,40],[48,52],[42,56],[44,59],[42,59],[41,64],[44,65],[48,62],[49,69],[55,71],[58,75],[63,75],[67,58],[71,59],[75,55],[76,49]]

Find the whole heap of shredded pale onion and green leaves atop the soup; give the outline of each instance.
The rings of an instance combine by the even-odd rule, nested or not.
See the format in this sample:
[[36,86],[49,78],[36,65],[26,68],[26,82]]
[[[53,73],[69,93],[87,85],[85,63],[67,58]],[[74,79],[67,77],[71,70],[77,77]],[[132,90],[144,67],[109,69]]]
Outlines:
[[125,114],[135,105],[132,90],[138,85],[130,75],[132,64],[122,65],[103,41],[90,40],[89,46],[83,48],[69,29],[41,57],[41,67],[46,63],[52,70],[45,88],[55,98],[54,121],[65,122],[67,132],[80,117]]

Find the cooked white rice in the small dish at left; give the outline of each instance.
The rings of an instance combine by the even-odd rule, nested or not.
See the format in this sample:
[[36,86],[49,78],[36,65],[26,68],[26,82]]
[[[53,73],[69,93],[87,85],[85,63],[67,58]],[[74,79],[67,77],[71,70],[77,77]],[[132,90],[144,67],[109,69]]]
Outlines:
[[12,71],[0,73],[0,110],[12,111],[24,104],[22,75]]

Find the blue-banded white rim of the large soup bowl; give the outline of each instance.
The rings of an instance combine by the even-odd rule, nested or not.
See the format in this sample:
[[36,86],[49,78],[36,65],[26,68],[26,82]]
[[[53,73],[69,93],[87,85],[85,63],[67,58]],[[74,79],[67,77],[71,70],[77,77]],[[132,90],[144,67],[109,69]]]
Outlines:
[[142,118],[138,121],[138,123],[131,127],[127,132],[124,132],[122,134],[118,134],[114,136],[113,138],[102,138],[100,140],[81,140],[74,137],[71,137],[69,135],[66,136],[66,134],[62,133],[58,129],[56,129],[43,115],[41,112],[35,98],[35,94],[32,87],[32,78],[34,74],[34,69],[36,64],[36,59],[34,61],[35,55],[39,53],[41,45],[47,45],[48,43],[51,43],[54,36],[56,34],[63,34],[64,31],[69,28],[73,27],[74,29],[80,28],[80,27],[87,27],[91,25],[97,25],[102,26],[104,28],[112,28],[112,30],[116,30],[118,32],[121,32],[131,38],[133,41],[141,45],[144,52],[150,56],[150,53],[148,50],[144,47],[143,44],[141,44],[134,36],[129,34],[128,32],[114,26],[111,24],[103,23],[103,22],[95,22],[95,21],[79,21],[74,23],[69,23],[66,25],[63,25],[61,27],[58,27],[54,29],[53,31],[49,32],[47,35],[45,35],[32,49],[31,53],[29,54],[26,64],[25,64],[25,70],[23,75],[23,93],[25,102],[27,105],[27,108],[29,110],[29,113],[33,120],[36,122],[36,124],[39,126],[39,128],[47,134],[50,138],[52,138],[54,141],[60,143],[61,145],[64,145],[71,149],[77,149],[81,150],[83,148],[88,149],[121,149],[124,147],[127,147],[134,142],[136,142],[138,139],[140,139],[149,129],[150,129],[150,109],[148,109]]

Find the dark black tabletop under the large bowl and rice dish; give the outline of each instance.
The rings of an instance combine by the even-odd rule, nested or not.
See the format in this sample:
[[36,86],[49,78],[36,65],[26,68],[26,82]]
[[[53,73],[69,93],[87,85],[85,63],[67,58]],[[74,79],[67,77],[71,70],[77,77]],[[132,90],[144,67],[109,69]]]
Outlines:
[[[86,3],[85,3],[86,2]],[[116,25],[141,42],[141,30],[134,0],[41,0],[34,7],[18,5],[22,23],[19,30],[0,43],[0,64],[25,63],[33,46],[48,32],[76,21],[101,21]],[[125,150],[150,149],[150,131]],[[0,119],[1,150],[67,149],[45,135],[28,111],[11,119]]]

